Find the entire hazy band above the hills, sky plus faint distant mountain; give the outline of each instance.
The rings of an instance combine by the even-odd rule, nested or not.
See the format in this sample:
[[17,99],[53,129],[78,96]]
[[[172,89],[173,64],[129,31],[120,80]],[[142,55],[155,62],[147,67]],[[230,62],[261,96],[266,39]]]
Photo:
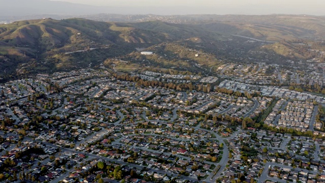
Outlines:
[[10,16],[99,13],[325,16],[324,7],[324,0],[0,0],[0,19]]

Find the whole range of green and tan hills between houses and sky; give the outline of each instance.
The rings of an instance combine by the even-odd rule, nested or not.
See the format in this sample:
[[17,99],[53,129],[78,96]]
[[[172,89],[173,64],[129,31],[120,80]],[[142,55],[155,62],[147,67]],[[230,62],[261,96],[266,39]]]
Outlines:
[[[245,17],[245,22],[236,22]],[[267,17],[264,23],[263,17]],[[287,23],[276,22],[283,17],[216,16],[185,24],[81,18],[17,21],[0,25],[0,77],[99,68],[111,58],[135,64],[118,65],[121,68],[178,68],[204,73],[220,64],[219,60],[282,64],[288,59],[316,58],[322,62],[324,56],[319,51],[325,46],[318,41],[325,35],[322,18],[308,17],[301,25],[298,22],[303,17],[299,16],[286,17]],[[154,51],[156,55],[141,57],[136,50]],[[196,53],[200,56],[194,56]],[[135,62],[134,57],[141,62]]]

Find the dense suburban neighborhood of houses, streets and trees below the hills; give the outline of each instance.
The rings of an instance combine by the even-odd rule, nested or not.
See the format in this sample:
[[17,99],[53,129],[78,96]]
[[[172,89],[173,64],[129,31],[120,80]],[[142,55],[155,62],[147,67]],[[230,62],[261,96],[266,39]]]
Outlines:
[[[160,77],[197,80],[203,91],[140,82]],[[2,181],[325,181],[325,100],[313,94],[90,69],[39,74],[0,89]]]

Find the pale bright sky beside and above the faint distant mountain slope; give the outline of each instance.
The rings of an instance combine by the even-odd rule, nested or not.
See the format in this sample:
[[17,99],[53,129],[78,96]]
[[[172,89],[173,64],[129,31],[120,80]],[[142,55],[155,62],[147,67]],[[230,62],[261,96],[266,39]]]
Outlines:
[[[54,1],[54,0],[51,0]],[[57,1],[57,0],[56,0]],[[109,7],[169,7],[157,14],[310,14],[325,15],[324,0],[60,0]],[[173,7],[184,7],[177,12]],[[160,10],[160,9],[159,9]],[[156,9],[155,9],[156,11]],[[165,11],[165,12],[164,12]],[[324,12],[324,13],[323,13]],[[125,14],[124,12],[121,12]],[[144,10],[143,14],[154,13]]]

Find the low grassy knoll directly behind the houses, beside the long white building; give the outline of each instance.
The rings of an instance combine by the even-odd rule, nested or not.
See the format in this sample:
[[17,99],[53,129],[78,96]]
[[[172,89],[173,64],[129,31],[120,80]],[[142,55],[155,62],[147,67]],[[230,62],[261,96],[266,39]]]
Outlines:
[[[182,42],[161,43],[148,47],[146,50],[153,51],[154,54],[141,55],[140,52],[135,51],[123,56],[123,61],[119,59],[107,59],[104,65],[116,71],[125,70],[125,68],[132,71],[148,67],[163,69],[172,68],[178,71],[207,74],[211,67],[222,63],[215,55],[203,50],[186,47]],[[127,64],[125,64],[125,62],[127,62]]]

